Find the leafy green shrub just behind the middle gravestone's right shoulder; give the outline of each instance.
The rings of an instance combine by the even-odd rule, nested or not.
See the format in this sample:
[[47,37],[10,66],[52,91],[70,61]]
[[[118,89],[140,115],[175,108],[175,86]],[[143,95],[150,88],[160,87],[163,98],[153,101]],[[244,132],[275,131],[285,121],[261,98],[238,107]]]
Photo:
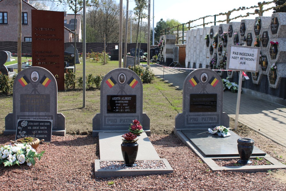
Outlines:
[[[134,71],[134,66],[128,66],[128,69]],[[154,80],[155,74],[153,73],[150,66],[146,66],[144,68],[143,66],[136,65],[134,72],[139,76],[142,83],[148,84],[152,83],[152,81]]]

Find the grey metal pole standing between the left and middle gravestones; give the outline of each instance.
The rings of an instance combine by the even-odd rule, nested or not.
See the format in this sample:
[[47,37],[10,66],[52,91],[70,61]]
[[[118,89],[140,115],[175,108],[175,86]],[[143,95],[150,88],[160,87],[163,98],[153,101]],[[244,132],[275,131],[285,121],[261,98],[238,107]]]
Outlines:
[[[82,81],[83,81],[83,99],[82,99],[82,107],[86,107],[86,2],[83,2],[83,30],[82,30]],[[75,52],[76,53],[76,52]],[[76,55],[76,54],[75,54]]]

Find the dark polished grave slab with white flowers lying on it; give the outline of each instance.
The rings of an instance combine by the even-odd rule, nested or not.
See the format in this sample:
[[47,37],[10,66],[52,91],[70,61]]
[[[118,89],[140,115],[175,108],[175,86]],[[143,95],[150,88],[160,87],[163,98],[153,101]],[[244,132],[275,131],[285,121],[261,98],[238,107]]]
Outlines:
[[[237,139],[241,138],[235,132],[229,131],[231,136],[222,137],[210,134],[206,129],[182,130],[181,131],[205,157],[239,156]],[[265,152],[254,146],[252,156],[264,156]]]

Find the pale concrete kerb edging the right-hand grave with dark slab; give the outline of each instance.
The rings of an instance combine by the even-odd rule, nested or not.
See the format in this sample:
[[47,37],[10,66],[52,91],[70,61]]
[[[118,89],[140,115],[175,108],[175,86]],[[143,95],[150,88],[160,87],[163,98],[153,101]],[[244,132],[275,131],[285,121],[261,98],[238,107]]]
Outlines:
[[[204,163],[206,163],[210,170],[213,172],[215,171],[232,171],[232,172],[265,172],[267,170],[274,170],[274,169],[285,169],[286,165],[282,164],[281,162],[277,161],[270,155],[266,154],[265,156],[258,156],[263,157],[265,160],[271,162],[272,165],[251,165],[251,166],[218,166],[215,163],[215,160],[229,160],[229,159],[239,159],[239,157],[204,157],[200,151],[196,149],[194,144],[189,141],[189,139],[180,131],[176,131],[174,128],[174,134],[188,147],[192,149],[192,151],[198,155]],[[256,157],[251,157],[250,159],[255,159]]]

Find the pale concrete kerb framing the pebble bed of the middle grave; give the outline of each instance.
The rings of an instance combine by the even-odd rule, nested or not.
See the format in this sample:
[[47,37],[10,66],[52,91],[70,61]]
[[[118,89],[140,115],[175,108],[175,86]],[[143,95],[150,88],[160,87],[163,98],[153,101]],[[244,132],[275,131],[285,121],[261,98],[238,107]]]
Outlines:
[[[118,176],[140,176],[149,174],[168,174],[173,172],[173,168],[170,166],[166,159],[160,159],[164,162],[166,168],[160,169],[100,169],[100,162],[106,160],[95,160],[94,162],[94,176],[100,178],[110,178]],[[120,161],[122,162],[122,161]]]

